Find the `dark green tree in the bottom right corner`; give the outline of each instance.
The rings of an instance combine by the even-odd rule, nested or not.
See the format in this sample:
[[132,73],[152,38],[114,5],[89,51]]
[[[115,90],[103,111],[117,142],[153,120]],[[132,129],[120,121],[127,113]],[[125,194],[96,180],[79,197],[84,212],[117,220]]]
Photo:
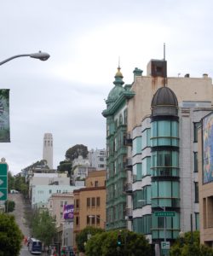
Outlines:
[[213,256],[210,247],[200,245],[199,231],[186,232],[183,237],[178,237],[170,248],[170,256]]

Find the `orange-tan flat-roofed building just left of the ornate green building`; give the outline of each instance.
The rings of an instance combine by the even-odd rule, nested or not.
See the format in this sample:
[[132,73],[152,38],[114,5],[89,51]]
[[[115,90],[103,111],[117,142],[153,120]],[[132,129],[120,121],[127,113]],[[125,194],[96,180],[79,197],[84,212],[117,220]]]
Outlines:
[[89,172],[85,180],[85,188],[74,190],[73,194],[74,237],[87,226],[105,229],[106,171]]

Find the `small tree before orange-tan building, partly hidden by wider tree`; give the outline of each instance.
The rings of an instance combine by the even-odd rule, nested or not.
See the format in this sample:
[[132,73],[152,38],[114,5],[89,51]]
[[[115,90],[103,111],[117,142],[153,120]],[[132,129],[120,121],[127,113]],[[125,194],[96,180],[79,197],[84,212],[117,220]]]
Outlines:
[[89,234],[91,236],[95,236],[97,233],[104,232],[104,230],[94,227],[86,227],[85,229],[81,230],[78,235],[76,236],[76,243],[78,247],[78,251],[84,253],[85,252],[85,242],[89,239]]

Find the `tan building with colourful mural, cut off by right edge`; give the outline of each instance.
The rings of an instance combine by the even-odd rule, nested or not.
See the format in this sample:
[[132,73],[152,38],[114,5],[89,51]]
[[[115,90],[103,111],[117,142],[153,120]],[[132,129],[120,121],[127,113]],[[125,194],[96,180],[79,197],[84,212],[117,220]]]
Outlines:
[[213,247],[213,112],[199,128],[200,242]]

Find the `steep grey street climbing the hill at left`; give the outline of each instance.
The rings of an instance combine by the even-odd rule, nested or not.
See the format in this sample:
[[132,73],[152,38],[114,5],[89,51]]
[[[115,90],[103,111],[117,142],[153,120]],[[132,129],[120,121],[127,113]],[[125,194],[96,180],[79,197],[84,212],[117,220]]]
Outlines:
[[[20,230],[22,231],[23,235],[28,237],[30,236],[30,230],[28,226],[26,225],[26,219],[25,219],[25,210],[27,207],[30,207],[27,205],[21,194],[9,194],[9,201],[15,202],[15,208],[14,212],[9,212],[9,214],[13,214],[16,223],[19,225]],[[28,247],[26,245],[22,245],[22,248],[20,250],[20,256],[27,256],[32,255],[30,252],[28,252]],[[45,255],[44,253],[40,255]]]

